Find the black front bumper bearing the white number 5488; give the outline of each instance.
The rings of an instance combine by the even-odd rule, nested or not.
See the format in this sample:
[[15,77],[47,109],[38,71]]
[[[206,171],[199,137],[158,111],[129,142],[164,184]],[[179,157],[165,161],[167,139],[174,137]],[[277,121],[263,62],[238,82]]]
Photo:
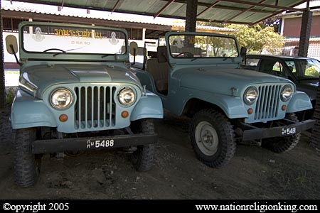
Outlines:
[[97,150],[101,148],[120,148],[157,143],[158,135],[139,133],[121,136],[91,138],[61,138],[36,140],[32,143],[32,153],[59,153],[64,151]]

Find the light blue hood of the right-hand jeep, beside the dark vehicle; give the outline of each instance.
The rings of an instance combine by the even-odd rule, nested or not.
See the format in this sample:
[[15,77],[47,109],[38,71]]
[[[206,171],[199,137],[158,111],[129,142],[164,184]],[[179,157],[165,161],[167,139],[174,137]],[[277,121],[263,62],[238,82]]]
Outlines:
[[[228,67],[192,67],[174,72],[180,86],[206,92],[235,95],[250,85],[272,82],[290,82],[282,77],[262,72]],[[292,83],[292,82],[290,82]]]

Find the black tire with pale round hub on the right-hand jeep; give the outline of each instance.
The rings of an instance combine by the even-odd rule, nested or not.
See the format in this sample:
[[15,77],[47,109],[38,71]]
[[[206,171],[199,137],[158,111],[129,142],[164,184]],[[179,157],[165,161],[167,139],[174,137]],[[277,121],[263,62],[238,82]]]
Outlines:
[[227,117],[213,109],[203,109],[193,116],[190,138],[196,157],[212,168],[227,164],[235,154],[233,126]]

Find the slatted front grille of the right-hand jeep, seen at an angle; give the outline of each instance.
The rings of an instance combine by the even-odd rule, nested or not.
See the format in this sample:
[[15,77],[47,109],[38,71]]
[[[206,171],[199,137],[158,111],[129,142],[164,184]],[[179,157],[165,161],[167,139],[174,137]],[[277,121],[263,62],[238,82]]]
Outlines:
[[255,109],[255,120],[277,117],[281,85],[263,85],[257,89],[259,97]]

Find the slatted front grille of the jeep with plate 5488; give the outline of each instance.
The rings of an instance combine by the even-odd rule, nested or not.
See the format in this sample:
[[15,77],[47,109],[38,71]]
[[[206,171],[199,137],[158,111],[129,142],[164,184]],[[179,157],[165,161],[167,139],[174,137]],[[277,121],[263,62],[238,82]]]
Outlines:
[[75,129],[94,129],[115,125],[116,87],[75,87]]

